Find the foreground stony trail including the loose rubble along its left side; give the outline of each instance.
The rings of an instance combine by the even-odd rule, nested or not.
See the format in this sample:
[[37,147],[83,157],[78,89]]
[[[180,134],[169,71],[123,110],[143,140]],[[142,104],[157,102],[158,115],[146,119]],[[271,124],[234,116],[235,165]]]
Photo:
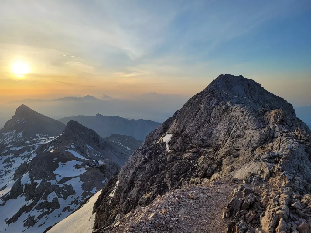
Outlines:
[[[242,181],[240,181],[242,182]],[[239,181],[219,179],[183,185],[158,197],[146,207],[132,209],[102,227],[105,232],[225,232],[222,213]],[[95,231],[97,232],[97,231]]]

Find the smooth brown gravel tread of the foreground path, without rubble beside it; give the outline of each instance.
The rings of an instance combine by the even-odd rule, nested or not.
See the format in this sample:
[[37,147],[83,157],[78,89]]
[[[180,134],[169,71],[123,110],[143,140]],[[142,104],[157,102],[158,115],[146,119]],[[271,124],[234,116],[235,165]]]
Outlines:
[[188,199],[186,205],[178,209],[176,217],[180,217],[182,221],[175,223],[171,232],[224,232],[226,223],[221,217],[235,187],[236,183],[218,181],[209,187],[188,188],[189,195],[196,193],[197,199]]

